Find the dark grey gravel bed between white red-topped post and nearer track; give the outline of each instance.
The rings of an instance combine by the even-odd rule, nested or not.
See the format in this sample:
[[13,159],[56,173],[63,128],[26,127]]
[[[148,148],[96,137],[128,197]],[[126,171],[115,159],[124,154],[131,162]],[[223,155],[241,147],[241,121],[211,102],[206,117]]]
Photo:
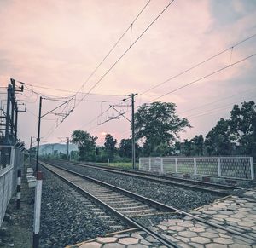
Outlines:
[[40,247],[65,247],[113,232],[91,207],[77,199],[72,187],[42,170]]

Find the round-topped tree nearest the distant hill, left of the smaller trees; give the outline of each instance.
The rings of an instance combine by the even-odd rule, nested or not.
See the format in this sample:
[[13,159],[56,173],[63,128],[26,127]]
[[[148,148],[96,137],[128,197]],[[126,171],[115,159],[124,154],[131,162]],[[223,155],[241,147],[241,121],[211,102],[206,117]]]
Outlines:
[[90,133],[84,130],[74,130],[71,138],[71,141],[79,147],[79,160],[92,161],[95,159],[97,136],[90,136]]

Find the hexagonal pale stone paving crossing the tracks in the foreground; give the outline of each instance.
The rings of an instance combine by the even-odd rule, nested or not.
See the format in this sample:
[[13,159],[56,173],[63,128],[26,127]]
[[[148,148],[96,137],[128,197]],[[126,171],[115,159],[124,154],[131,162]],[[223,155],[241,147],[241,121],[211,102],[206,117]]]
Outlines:
[[[256,191],[247,191],[242,198],[230,196],[218,199],[211,205],[191,211],[191,214],[232,228],[240,234],[256,239]],[[213,228],[186,216],[183,219],[169,219],[154,227],[166,238],[181,247],[196,248],[256,248],[256,243],[241,235],[230,234],[220,228]],[[97,238],[71,247],[79,248],[146,248],[165,247],[143,232],[119,234],[108,238]]]

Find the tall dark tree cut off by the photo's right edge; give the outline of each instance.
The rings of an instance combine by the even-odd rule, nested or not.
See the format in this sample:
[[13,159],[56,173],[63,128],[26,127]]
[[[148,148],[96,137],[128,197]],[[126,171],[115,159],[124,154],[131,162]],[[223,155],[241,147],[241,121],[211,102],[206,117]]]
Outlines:
[[254,101],[244,101],[241,107],[234,105],[230,113],[232,136],[241,146],[243,154],[253,155],[256,152],[256,105]]

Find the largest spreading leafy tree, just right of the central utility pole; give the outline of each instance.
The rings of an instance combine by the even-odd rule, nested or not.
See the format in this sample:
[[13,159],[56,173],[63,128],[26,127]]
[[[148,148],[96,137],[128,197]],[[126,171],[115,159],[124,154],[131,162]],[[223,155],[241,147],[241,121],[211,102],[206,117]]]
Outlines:
[[155,153],[160,144],[173,146],[178,133],[191,127],[186,118],[179,118],[174,103],[155,101],[138,107],[135,113],[137,138],[143,142],[143,153]]

